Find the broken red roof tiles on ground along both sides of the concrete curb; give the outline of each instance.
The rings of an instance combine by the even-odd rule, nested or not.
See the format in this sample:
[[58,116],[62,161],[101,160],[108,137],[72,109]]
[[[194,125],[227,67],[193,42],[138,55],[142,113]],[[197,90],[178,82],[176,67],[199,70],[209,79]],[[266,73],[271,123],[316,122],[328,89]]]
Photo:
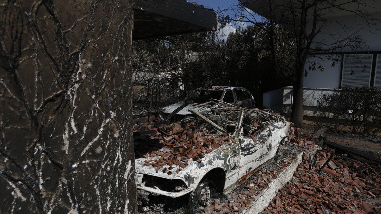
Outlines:
[[381,214],[380,165],[362,163],[345,154],[335,156],[332,149],[316,145],[318,139],[301,136],[294,128],[290,129],[289,139],[289,145],[279,148],[273,164],[255,173],[225,199],[206,207],[205,213],[242,213],[285,170],[298,151],[313,151],[318,147],[314,159],[304,155],[293,180],[279,190],[262,214]]

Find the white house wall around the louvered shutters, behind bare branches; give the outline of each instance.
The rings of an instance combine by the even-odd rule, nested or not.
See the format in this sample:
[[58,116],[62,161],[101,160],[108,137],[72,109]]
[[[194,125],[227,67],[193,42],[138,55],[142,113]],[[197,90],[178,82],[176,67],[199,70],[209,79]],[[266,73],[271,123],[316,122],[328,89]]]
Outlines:
[[[378,3],[380,4],[380,3]],[[380,4],[381,6],[381,4]],[[373,12],[370,14],[372,18],[381,19],[381,11],[380,12]],[[343,39],[345,37],[351,37],[354,36],[360,36],[360,38],[363,40],[365,45],[361,48],[351,48],[346,47],[338,50],[334,50],[336,53],[342,53],[342,54],[351,54],[351,53],[358,53],[359,55],[367,54],[368,52],[381,52],[381,43],[380,43],[380,35],[381,35],[381,27],[380,24],[377,26],[371,26],[372,29],[367,25],[365,20],[360,19],[359,17],[355,17],[354,15],[346,15],[346,16],[334,16],[332,17],[332,20],[337,21],[338,23],[330,23],[329,26],[325,26],[322,30],[322,33],[318,34],[314,41],[319,43],[313,43],[311,45],[312,48],[321,48],[322,50],[329,48],[328,45],[321,45],[321,43],[324,44],[334,44],[337,40]],[[347,26],[348,28],[343,28],[342,25]],[[373,29],[377,28],[377,29]],[[366,66],[366,72],[369,77],[367,79],[367,83],[363,83],[364,81],[360,81],[361,78],[365,75],[363,72],[358,71],[356,73],[356,70],[353,67],[348,68],[348,63],[344,63],[344,68],[353,70],[354,73],[351,73],[350,77],[348,77],[348,72],[345,74],[342,74],[342,57],[341,54],[338,54],[336,56],[339,56],[339,60],[335,63],[335,67],[332,67],[332,60],[326,59],[326,55],[324,54],[315,54],[313,53],[312,57],[308,58],[308,62],[306,63],[306,71],[308,72],[308,76],[304,79],[304,87],[307,88],[328,88],[328,89],[334,89],[334,88],[340,88],[342,86],[370,86],[375,85],[379,86],[380,80],[375,79],[374,83],[371,82],[371,72],[372,72],[372,55],[370,55],[370,58],[365,60],[364,62],[360,62],[361,64],[367,64]],[[325,59],[321,58],[325,57]],[[348,56],[351,57],[351,56]],[[353,58],[353,57],[352,57]],[[357,57],[358,58],[358,57]],[[360,57],[361,58],[361,57]],[[354,63],[357,63],[355,59],[353,59]],[[371,60],[369,62],[369,60]],[[380,57],[378,57],[378,65],[380,64]],[[311,71],[309,70],[309,67],[312,63],[316,63],[316,70]],[[370,63],[370,64],[369,64]],[[318,69],[318,66],[322,65],[325,69],[325,71],[321,72],[320,69]],[[360,68],[359,68],[360,69]],[[377,76],[377,73],[379,73],[379,76]],[[361,77],[356,77],[356,75],[360,75]],[[376,71],[376,78],[380,77],[380,72]],[[345,79],[342,79],[345,78]],[[354,79],[353,81],[349,78]],[[349,81],[349,82],[348,82]]]

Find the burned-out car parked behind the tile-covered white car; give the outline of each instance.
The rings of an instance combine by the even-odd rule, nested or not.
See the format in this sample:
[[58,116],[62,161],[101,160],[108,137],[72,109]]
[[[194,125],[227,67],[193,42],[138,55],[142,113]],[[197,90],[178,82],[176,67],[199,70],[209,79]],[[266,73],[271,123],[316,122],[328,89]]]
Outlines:
[[[180,107],[185,103],[202,104],[208,102],[210,99],[220,100],[238,107],[255,107],[253,95],[250,94],[250,92],[245,88],[231,86],[208,86],[197,88],[191,91],[191,93],[182,101],[163,107],[161,109],[162,117],[165,117],[168,114],[172,113],[176,108]],[[191,112],[188,111],[188,109],[191,108],[195,108],[195,110],[201,114],[209,112],[208,108],[188,105],[187,107],[184,107],[181,111],[179,111],[175,117],[183,118],[185,115],[191,114]]]

